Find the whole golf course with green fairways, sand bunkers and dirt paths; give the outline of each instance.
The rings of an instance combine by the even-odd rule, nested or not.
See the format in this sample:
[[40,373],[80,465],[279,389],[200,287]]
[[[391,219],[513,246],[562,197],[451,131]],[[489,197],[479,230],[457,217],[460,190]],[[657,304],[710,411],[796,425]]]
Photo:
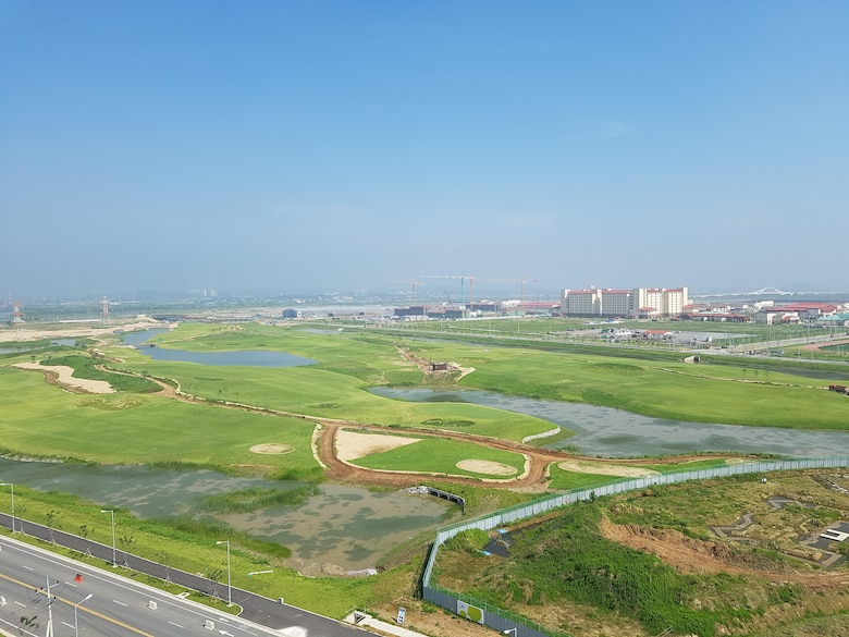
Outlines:
[[[578,346],[565,341],[558,344],[552,338],[516,342],[497,334],[493,338],[491,331],[485,338],[471,331],[464,338],[446,334],[440,339],[432,333],[422,338],[416,330],[381,330],[348,322],[339,327],[306,321],[155,327],[158,329],[144,332],[149,335],[137,346],[125,344],[121,330],[77,336],[74,344],[57,344],[61,336],[58,329],[54,338],[30,340],[26,346],[7,333],[9,340],[0,354],[2,455],[66,466],[213,471],[234,480],[260,480],[261,486],[250,490],[208,493],[217,500],[207,501],[202,511],[198,507],[179,517],[143,518],[118,507],[124,549],[150,559],[167,556],[171,565],[188,572],[216,573],[222,556],[214,541],[225,537],[233,542],[234,586],[272,598],[285,590],[287,602],[333,617],[342,617],[353,608],[379,616],[391,616],[397,605],[418,609],[413,617],[422,632],[435,637],[489,634],[415,600],[427,546],[439,523],[424,525],[387,550],[372,565],[376,575],[339,576],[345,574],[345,565],[337,564],[305,577],[298,573],[297,552],[236,528],[236,514],[258,514],[272,507],[294,510],[330,483],[366,487],[378,493],[427,485],[464,499],[463,510],[445,505],[440,520],[444,523],[544,493],[743,460],[711,449],[663,457],[586,457],[580,445],[569,444],[575,431],[568,425],[555,426],[541,417],[466,402],[463,392],[614,408],[664,421],[721,425],[731,437],[736,427],[849,436],[849,399],[827,391],[828,382],[821,378],[825,368],[849,379],[842,360],[770,365],[772,362],[759,359],[755,365],[745,357],[717,356],[712,360],[709,353],[702,353],[694,364],[691,353],[668,347]],[[557,331],[552,321],[545,329],[546,334]],[[562,329],[566,332],[568,323]],[[504,330],[506,336],[514,328],[505,326]],[[533,322],[528,322],[526,330],[532,331]],[[183,359],[158,358],[155,351],[181,353]],[[302,362],[270,366],[192,360],[193,355],[199,359],[200,355],[251,352],[286,354]],[[381,388],[436,390],[455,399],[396,400],[379,395],[374,390]],[[849,444],[844,450],[847,448]],[[751,450],[743,455],[758,453]],[[8,481],[2,474],[0,480]],[[699,489],[699,498],[709,497],[704,486]],[[9,495],[0,488],[0,510],[11,506]],[[15,485],[14,498],[21,517],[40,524],[49,520],[56,528],[109,542],[109,527],[99,513],[108,502],[89,502],[24,485]],[[735,516],[746,505],[740,502],[723,515]],[[849,513],[842,502],[829,505],[833,511]],[[616,524],[629,524],[604,511],[586,515],[589,517],[580,517],[580,524],[587,528],[604,530],[608,528],[604,520],[614,517]],[[686,518],[684,510],[677,515]],[[697,535],[704,540],[711,513],[702,515],[707,522],[699,523],[702,530]],[[656,526],[656,519],[641,524]],[[685,520],[675,528],[692,524]],[[346,532],[354,535],[343,528],[341,537]],[[605,541],[615,541],[614,535],[607,532]],[[588,551],[607,550],[600,546],[592,544]],[[476,561],[469,555],[477,549],[471,553],[467,549],[454,547],[456,555],[465,555],[457,558],[457,563],[475,569]],[[243,575],[259,566],[273,572],[253,579]],[[515,575],[497,573],[497,577]],[[450,580],[462,579],[459,571],[447,575]],[[543,599],[518,595],[518,589],[509,586],[504,590],[493,586],[499,595],[483,592],[488,585],[487,577],[481,577],[462,586],[473,587],[493,603],[513,607],[514,612],[527,613],[527,604]],[[543,597],[554,603],[562,596],[546,592]],[[799,593],[798,598],[804,596]],[[571,599],[568,603],[599,603],[575,596]],[[836,601],[829,608],[830,614],[846,612]],[[614,604],[604,612],[616,613],[617,609]],[[733,614],[717,615],[706,623],[730,626]],[[601,628],[581,625],[580,632],[575,632],[571,620],[563,618],[551,630],[601,636],[605,622],[599,617]],[[639,630],[654,626],[639,613],[627,621],[635,622],[635,635],[648,635]],[[758,629],[767,626],[755,626],[746,617],[738,624],[739,635],[759,635]],[[768,624],[779,625],[779,617]]]

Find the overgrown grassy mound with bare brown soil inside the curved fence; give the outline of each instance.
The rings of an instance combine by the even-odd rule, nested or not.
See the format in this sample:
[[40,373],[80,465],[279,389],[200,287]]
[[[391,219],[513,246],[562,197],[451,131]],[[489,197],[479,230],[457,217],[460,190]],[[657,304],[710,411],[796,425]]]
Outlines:
[[[776,511],[765,502],[776,493],[824,506]],[[795,473],[771,475],[767,482],[761,482],[760,476],[741,476],[629,492],[567,507],[540,525],[515,531],[507,559],[482,559],[473,552],[464,555],[446,547],[440,551],[439,579],[482,601],[538,618],[556,617],[558,608],[578,602],[588,604],[586,615],[630,617],[651,635],[667,626],[673,626],[676,635],[705,637],[729,633],[795,635],[795,629],[809,625],[800,621],[805,613],[845,613],[845,592],[834,587],[820,590],[789,581],[771,583],[756,575],[682,575],[653,555],[606,540],[596,522],[607,516],[620,525],[673,529],[682,534],[673,537],[684,538],[684,546],[692,546],[686,538],[700,538],[707,540],[710,548],[716,541],[711,526],[734,524],[748,511],[755,516],[751,537],[760,539],[761,546],[727,543],[735,563],[772,573],[790,565],[793,572],[813,574],[815,568],[786,553],[798,551],[799,529],[813,524],[813,516],[837,519],[848,502],[846,495],[824,489],[812,476]],[[766,550],[767,540],[782,553]],[[845,569],[846,565],[835,568]],[[545,613],[539,612],[541,607]],[[787,612],[767,613],[778,608]],[[785,632],[780,632],[782,624],[788,625]],[[580,634],[571,623],[555,626],[549,620],[546,625]],[[841,635],[834,630],[845,625],[845,616],[823,618],[816,625],[823,635]],[[768,629],[763,629],[765,626]]]

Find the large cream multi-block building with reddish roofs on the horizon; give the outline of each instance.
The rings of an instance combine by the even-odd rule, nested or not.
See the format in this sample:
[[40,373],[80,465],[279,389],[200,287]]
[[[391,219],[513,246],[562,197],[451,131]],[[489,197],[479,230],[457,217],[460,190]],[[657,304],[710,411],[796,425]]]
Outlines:
[[564,290],[561,311],[566,316],[659,318],[680,316],[688,304],[687,287]]

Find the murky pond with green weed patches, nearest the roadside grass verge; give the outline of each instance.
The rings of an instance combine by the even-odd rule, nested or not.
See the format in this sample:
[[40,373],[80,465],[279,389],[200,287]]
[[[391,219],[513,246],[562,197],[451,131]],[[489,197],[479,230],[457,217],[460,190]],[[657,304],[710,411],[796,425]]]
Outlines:
[[[211,493],[251,487],[294,489],[302,486],[261,478],[235,478],[210,470],[66,465],[7,458],[0,458],[0,482],[72,493],[97,506],[126,509],[143,518],[193,515],[197,513],[198,500]],[[429,495],[378,493],[359,487],[321,485],[318,495],[300,506],[274,506],[216,517],[253,537],[288,547],[297,569],[317,575],[324,564],[333,564],[339,572],[372,568],[387,551],[424,529],[444,524],[446,514],[458,511]],[[45,523],[44,519],[34,522]],[[63,530],[75,532],[77,529]]]

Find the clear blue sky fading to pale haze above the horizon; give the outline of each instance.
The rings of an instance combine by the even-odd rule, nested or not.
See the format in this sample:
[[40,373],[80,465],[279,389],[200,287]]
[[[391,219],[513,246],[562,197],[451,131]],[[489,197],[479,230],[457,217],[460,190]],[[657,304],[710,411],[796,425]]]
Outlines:
[[848,33],[842,0],[0,0],[0,293],[849,290]]

